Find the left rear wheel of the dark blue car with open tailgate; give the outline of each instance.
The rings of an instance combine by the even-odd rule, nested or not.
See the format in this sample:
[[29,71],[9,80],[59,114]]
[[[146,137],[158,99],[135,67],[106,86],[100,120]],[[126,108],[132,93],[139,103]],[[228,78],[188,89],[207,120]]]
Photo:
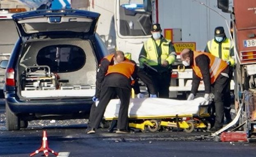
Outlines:
[[6,112],[6,127],[7,130],[20,130],[19,118],[14,113],[11,112],[9,106],[5,103]]

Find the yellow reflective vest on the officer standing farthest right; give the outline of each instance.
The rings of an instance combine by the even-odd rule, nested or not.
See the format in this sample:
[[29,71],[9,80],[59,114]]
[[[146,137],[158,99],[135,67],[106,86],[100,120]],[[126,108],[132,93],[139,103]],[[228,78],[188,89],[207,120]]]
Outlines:
[[231,58],[230,50],[232,48],[232,45],[228,38],[226,38],[226,40],[222,42],[221,52],[219,52],[219,43],[215,42],[214,39],[208,41],[207,46],[212,55],[220,57],[219,54],[221,53],[221,59],[225,61]]

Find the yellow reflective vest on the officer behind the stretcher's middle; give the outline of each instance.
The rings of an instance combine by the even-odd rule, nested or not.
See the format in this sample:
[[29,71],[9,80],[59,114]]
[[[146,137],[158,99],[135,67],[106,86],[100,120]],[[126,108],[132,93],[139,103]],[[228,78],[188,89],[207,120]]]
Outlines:
[[158,46],[155,41],[153,40],[153,38],[149,38],[149,40],[147,40],[145,43],[144,43],[144,49],[147,53],[147,56],[146,56],[146,59],[149,60],[148,64],[151,65],[151,66],[154,66],[154,65],[158,65],[158,64],[161,64],[161,62],[164,62],[167,57],[169,57],[169,41],[165,42],[165,41],[162,41],[161,45],[160,45],[160,48],[161,48],[161,51],[162,51],[162,54],[161,54],[161,61],[158,62],[158,52],[157,52],[157,48],[156,46]]

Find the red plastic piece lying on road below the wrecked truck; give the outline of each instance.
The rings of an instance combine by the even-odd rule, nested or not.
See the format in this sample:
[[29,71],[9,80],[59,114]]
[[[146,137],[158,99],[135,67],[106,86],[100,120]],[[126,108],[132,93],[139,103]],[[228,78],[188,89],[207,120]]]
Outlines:
[[247,134],[245,132],[223,132],[220,140],[222,142],[247,142]]

